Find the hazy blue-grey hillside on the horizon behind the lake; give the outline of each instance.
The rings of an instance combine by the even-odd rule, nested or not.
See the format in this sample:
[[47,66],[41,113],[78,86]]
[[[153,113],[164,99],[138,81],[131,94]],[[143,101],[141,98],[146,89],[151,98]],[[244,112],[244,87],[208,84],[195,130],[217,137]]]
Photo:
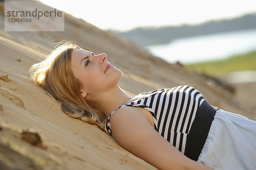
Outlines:
[[224,20],[212,20],[199,25],[165,26],[158,28],[135,28],[131,31],[111,31],[126,37],[137,45],[146,46],[171,42],[175,38],[238,31],[256,28],[256,13]]

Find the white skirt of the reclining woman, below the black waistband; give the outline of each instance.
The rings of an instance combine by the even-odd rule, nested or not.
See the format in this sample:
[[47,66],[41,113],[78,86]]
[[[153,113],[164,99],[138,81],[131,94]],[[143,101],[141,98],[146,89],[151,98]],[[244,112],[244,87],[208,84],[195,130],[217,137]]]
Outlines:
[[214,170],[256,170],[256,121],[218,110],[198,162]]

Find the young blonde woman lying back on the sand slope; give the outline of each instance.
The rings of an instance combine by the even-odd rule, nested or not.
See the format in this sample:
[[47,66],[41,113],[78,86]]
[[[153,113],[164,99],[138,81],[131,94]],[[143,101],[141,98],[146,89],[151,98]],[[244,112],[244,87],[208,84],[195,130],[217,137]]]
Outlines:
[[256,122],[209,105],[195,88],[130,96],[118,85],[122,71],[106,54],[71,42],[32,65],[30,74],[64,113],[96,125],[160,170],[256,167]]

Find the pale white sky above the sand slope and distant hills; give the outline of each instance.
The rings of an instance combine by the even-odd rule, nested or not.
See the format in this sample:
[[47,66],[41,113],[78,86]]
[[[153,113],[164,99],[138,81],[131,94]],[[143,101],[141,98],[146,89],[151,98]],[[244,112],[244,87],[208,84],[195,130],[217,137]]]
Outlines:
[[[101,29],[177,26],[256,12],[256,0],[40,0]],[[67,3],[68,2],[68,3]]]

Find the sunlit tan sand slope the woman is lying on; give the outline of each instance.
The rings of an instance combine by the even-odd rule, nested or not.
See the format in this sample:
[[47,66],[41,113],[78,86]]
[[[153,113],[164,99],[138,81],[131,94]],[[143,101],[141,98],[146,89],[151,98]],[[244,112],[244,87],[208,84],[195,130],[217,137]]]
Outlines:
[[130,95],[190,85],[211,105],[256,119],[255,102],[251,102],[255,95],[240,100],[243,93],[255,91],[255,84],[231,86],[190,73],[178,63],[169,64],[68,14],[64,32],[6,32],[3,3],[0,9],[0,169],[157,169],[98,128],[67,116],[55,99],[29,79],[30,66],[45,59],[55,46],[54,39],[73,40],[96,54],[106,53],[108,61],[123,72],[120,87]]

